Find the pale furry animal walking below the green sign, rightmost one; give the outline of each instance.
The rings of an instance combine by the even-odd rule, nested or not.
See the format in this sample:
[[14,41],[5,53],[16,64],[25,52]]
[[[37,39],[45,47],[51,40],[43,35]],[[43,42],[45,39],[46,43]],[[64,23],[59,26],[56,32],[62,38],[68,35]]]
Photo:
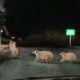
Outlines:
[[77,61],[77,55],[73,52],[67,52],[67,53],[62,52],[60,53],[60,56],[62,57],[60,62],[68,61],[72,63]]

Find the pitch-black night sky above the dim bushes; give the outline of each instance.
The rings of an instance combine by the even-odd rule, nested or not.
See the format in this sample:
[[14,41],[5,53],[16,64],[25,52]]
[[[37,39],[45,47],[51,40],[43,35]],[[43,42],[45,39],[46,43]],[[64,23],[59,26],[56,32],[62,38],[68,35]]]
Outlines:
[[31,31],[79,29],[80,5],[74,0],[4,0],[7,8],[6,25],[13,35],[26,35]]

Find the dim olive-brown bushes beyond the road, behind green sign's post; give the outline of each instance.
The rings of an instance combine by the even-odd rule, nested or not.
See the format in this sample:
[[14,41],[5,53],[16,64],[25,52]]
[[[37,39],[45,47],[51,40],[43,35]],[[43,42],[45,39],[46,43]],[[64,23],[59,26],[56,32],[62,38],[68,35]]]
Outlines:
[[[72,37],[73,44],[80,42]],[[77,41],[77,42],[75,42]],[[37,33],[30,33],[22,42],[24,45],[46,45],[46,46],[68,46],[69,37],[60,30],[45,30]]]

